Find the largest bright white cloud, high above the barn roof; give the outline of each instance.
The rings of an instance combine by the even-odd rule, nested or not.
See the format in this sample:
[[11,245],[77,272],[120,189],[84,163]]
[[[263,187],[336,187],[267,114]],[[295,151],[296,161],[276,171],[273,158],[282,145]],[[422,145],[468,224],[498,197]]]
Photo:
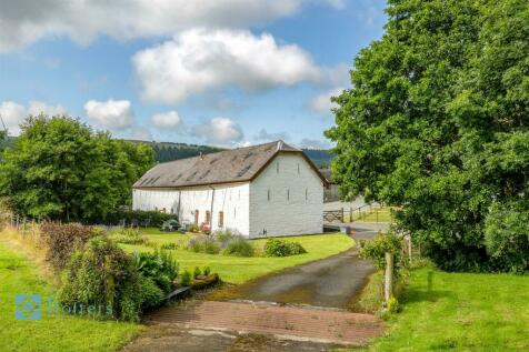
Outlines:
[[254,36],[244,30],[184,31],[137,52],[132,62],[141,97],[164,103],[222,84],[259,91],[320,82],[330,76],[298,46],[280,44],[271,34]]

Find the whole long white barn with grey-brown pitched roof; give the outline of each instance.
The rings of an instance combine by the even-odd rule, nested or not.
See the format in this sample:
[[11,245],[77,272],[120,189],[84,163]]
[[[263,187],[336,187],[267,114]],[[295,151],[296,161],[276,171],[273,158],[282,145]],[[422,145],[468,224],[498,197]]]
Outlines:
[[249,238],[319,233],[327,181],[282,141],[160,163],[132,190],[134,210]]

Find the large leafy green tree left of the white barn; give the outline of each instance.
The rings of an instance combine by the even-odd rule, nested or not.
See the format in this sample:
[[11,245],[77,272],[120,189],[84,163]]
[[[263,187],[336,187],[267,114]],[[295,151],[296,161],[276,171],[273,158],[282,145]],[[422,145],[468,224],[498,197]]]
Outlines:
[[0,195],[31,218],[103,221],[130,203],[132,183],[153,163],[146,144],[113,140],[68,117],[30,117],[2,154]]

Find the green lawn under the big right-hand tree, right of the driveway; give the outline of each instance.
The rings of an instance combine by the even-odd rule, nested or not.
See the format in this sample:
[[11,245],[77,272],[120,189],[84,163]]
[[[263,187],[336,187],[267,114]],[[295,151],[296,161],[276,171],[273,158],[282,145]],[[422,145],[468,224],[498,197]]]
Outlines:
[[403,303],[368,351],[529,351],[529,276],[419,269]]

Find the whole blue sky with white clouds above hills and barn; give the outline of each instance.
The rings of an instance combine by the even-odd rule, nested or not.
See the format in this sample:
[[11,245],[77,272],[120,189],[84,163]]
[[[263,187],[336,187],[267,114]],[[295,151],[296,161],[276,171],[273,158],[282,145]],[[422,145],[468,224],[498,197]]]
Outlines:
[[[330,97],[383,32],[379,0],[0,0],[0,114],[117,138],[329,148]],[[1,127],[0,127],[1,128]]]

